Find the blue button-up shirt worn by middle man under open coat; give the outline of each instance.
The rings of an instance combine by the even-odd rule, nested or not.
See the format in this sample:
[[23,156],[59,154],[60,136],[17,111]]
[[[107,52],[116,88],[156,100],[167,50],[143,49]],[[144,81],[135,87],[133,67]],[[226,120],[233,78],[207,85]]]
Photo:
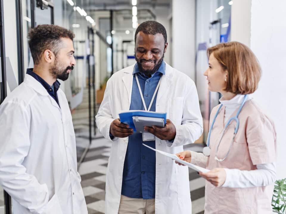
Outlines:
[[[163,61],[158,71],[148,76],[139,72],[138,64],[134,66],[133,74],[137,73],[147,108],[162,75],[165,74]],[[156,111],[156,97],[150,111]],[[137,86],[135,75],[131,94],[130,110],[145,110]],[[121,194],[130,198],[155,198],[156,153],[142,145],[142,133],[134,132],[129,136],[122,180]],[[155,141],[145,141],[145,144],[155,148]]]

